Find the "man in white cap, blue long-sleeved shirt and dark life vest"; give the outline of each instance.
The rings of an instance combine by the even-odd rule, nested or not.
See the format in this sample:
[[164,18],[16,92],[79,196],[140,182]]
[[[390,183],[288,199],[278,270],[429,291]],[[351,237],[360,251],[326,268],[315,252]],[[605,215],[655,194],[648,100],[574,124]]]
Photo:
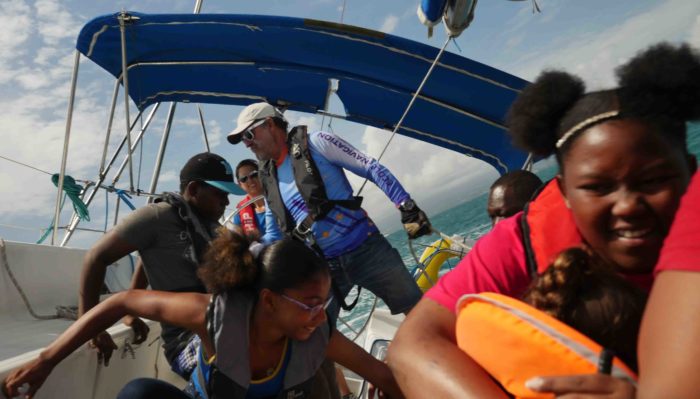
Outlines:
[[271,226],[263,240],[284,233],[321,252],[342,307],[348,307],[344,298],[357,284],[383,299],[393,314],[408,313],[421,291],[399,253],[360,207],[361,198],[353,197],[344,170],[366,177],[389,197],[401,211],[409,238],[430,233],[425,213],[388,169],[345,140],[322,131],[307,133],[305,126],[287,132],[287,126],[278,109],[256,103],[240,113],[228,135],[231,144],[243,141],[261,161],[266,225]]

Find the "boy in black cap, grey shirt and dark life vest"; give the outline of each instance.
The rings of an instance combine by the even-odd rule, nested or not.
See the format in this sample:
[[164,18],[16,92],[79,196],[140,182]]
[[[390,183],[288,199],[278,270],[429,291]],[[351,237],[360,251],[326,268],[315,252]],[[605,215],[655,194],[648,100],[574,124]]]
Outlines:
[[[206,292],[197,277],[199,260],[220,226],[218,220],[229,204],[228,195],[243,195],[233,169],[219,155],[204,152],[190,158],[180,171],[180,193],[163,193],[121,220],[88,251],[80,276],[80,314],[99,302],[107,266],[138,251],[140,261],[131,288],[172,292]],[[124,323],[135,333],[134,343],[148,335],[138,318]],[[187,379],[196,364],[196,335],[161,324],[163,348],[173,371]],[[116,345],[107,332],[93,339],[98,360],[108,364]]]

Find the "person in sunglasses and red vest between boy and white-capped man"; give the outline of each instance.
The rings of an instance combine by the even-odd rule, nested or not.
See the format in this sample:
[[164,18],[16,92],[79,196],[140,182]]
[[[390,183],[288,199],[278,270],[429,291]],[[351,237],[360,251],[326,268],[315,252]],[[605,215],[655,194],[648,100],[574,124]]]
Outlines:
[[245,205],[251,199],[264,194],[258,179],[258,162],[254,159],[239,162],[236,166],[236,180],[247,195],[236,206],[240,212],[233,217],[233,224],[240,227],[248,237],[260,238],[265,234],[265,199],[260,198]]

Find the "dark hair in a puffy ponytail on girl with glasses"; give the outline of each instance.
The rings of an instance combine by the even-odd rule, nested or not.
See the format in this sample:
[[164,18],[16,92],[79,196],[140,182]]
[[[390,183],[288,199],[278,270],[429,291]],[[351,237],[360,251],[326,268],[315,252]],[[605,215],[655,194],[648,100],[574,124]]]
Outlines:
[[256,258],[251,241],[221,228],[204,254],[197,275],[207,291],[220,293],[231,288],[267,288],[282,292],[298,287],[318,274],[328,274],[328,264],[303,243],[285,238],[265,247]]

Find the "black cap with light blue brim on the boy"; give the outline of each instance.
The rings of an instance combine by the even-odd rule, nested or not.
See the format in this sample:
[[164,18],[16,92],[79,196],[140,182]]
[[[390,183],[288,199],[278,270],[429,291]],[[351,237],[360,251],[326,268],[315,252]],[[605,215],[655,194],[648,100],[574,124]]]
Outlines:
[[231,194],[244,195],[245,191],[234,182],[233,169],[224,158],[203,152],[190,158],[180,171],[180,184],[203,181]]

